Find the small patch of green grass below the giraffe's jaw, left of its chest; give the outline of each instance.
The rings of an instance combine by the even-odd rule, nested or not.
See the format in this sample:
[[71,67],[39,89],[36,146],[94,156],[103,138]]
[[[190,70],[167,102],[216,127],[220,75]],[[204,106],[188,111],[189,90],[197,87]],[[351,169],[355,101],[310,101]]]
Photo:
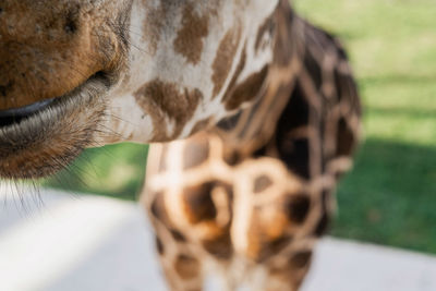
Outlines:
[[85,150],[69,169],[44,181],[49,187],[136,199],[147,159],[147,146],[118,144]]

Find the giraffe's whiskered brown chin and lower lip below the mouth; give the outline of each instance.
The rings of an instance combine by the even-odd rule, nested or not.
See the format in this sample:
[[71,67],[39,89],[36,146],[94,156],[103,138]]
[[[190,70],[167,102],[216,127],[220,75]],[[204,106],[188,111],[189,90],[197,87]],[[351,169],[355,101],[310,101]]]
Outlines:
[[92,77],[16,123],[0,128],[0,178],[31,180],[65,168],[93,146],[105,117],[109,85]]

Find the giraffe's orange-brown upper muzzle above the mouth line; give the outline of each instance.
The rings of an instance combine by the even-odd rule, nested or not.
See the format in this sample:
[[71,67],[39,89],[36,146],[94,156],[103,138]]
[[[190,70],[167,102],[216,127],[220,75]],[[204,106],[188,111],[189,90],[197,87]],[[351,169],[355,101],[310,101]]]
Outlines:
[[[96,3],[106,1],[109,8]],[[110,9],[126,13],[117,2],[0,1],[0,124],[123,65],[122,24],[107,20]]]

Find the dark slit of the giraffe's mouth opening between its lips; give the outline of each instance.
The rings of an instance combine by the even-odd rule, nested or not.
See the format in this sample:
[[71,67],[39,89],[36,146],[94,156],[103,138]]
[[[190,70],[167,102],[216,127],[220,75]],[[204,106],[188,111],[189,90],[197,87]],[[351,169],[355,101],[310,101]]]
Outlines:
[[0,128],[20,123],[51,105],[53,99],[43,100],[29,106],[0,111]]

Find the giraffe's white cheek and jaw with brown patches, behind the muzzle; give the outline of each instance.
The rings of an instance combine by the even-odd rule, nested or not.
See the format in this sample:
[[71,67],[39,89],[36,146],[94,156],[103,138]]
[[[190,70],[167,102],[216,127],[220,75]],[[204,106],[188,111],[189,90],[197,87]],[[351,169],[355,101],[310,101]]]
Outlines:
[[[124,141],[166,142],[252,104],[274,58],[263,24],[278,3],[135,1],[129,74],[111,94],[107,128]],[[250,88],[254,94],[238,94]]]

